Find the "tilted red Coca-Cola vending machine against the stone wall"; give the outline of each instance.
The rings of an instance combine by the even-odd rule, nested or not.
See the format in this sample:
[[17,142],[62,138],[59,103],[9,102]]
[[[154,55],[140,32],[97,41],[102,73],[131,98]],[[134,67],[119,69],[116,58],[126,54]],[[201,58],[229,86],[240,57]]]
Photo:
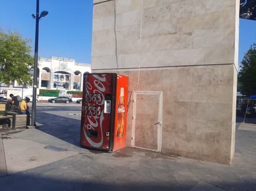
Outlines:
[[84,74],[82,147],[107,151],[126,147],[128,81],[116,73]]

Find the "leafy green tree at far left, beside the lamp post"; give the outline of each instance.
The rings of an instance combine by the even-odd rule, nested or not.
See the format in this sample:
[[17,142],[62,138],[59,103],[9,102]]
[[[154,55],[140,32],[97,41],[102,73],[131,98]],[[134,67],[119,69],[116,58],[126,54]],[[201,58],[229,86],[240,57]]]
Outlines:
[[29,39],[22,39],[17,32],[0,30],[0,81],[4,84],[32,81],[29,71],[34,60],[29,43]]

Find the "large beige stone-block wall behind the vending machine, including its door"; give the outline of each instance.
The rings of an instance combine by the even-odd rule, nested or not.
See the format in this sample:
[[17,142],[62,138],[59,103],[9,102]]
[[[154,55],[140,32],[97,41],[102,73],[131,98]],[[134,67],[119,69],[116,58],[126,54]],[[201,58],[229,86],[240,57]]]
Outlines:
[[126,145],[229,164],[239,0],[94,0],[92,73],[129,76]]

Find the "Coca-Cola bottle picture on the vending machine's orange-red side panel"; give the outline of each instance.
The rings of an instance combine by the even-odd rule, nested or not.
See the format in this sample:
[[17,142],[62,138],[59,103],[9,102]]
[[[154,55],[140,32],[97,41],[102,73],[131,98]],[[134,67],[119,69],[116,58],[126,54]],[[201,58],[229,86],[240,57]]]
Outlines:
[[124,87],[121,87],[117,109],[117,136],[124,135],[124,111]]

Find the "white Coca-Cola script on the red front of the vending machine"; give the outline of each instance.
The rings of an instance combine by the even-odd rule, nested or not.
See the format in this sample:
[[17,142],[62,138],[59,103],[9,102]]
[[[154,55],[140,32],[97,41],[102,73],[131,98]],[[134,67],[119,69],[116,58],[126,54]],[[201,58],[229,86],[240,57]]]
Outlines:
[[[106,93],[106,74],[87,75],[85,78],[85,122],[83,133],[91,146],[99,148],[103,144],[104,94]],[[89,130],[98,131],[99,141],[88,136]]]

